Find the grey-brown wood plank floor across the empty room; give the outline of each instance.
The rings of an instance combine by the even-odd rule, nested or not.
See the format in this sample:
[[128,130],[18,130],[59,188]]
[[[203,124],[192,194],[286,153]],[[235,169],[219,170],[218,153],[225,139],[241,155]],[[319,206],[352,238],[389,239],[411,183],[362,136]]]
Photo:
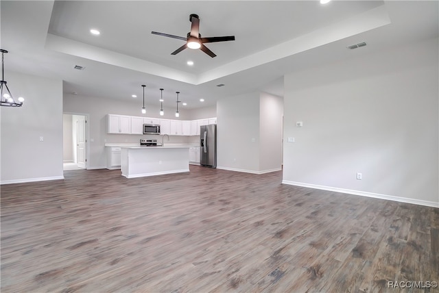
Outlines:
[[400,292],[388,282],[439,281],[437,208],[287,186],[281,172],[190,169],[1,186],[1,292]]

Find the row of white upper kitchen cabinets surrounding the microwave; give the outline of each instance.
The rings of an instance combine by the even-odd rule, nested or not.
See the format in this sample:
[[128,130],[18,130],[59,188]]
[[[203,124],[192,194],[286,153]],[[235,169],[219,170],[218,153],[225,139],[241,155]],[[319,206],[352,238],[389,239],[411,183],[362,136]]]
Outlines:
[[217,118],[172,120],[108,114],[107,133],[143,134],[143,124],[156,124],[161,125],[161,134],[169,136],[198,136],[200,135],[200,126],[216,123]]

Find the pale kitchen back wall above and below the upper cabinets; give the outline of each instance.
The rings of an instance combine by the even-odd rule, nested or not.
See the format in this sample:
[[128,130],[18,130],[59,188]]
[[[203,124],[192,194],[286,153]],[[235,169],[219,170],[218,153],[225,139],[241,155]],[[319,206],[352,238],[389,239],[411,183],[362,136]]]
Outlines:
[[[176,119],[174,107],[164,107],[165,115],[160,116],[160,108],[151,109],[147,106],[146,115],[141,114],[141,101],[120,101],[116,99],[104,99],[97,97],[83,97],[80,95],[64,94],[64,113],[88,114],[87,121],[89,133],[89,162],[87,168],[106,168],[106,143],[139,143],[141,138],[154,138],[161,142],[162,136],[143,136],[132,134],[107,134],[106,115],[121,114],[129,116],[148,116],[153,118]],[[180,120],[191,120],[187,110],[180,110]],[[198,142],[186,136],[170,136],[171,143],[193,143]],[[167,138],[165,138],[167,142]]]

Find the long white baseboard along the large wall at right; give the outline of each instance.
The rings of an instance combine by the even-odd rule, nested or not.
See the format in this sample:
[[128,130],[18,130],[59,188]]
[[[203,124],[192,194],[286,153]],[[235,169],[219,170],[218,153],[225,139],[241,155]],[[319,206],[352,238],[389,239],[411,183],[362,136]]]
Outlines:
[[365,192],[365,191],[359,191],[359,190],[350,190],[350,189],[344,189],[344,188],[335,188],[335,187],[331,187],[331,186],[320,186],[320,185],[315,185],[315,184],[287,181],[287,180],[283,180],[282,183],[288,184],[288,185],[294,185],[294,186],[302,186],[302,187],[307,187],[307,188],[315,188],[315,189],[320,189],[320,190],[328,190],[328,191],[333,191],[333,192],[341,192],[341,193],[354,194],[354,195],[359,195],[359,196],[373,197],[375,199],[385,199],[388,201],[399,201],[401,203],[413,203],[414,205],[425,205],[427,207],[439,207],[439,202],[436,203],[434,201],[423,201],[420,199],[407,199],[407,197],[392,196],[392,195],[378,194],[378,193]]

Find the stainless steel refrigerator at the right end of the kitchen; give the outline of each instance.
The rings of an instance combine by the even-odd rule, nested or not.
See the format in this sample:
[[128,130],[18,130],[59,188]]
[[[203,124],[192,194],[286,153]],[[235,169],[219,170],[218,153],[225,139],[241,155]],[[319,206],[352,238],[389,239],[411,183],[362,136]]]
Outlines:
[[200,126],[200,165],[217,168],[217,125]]

